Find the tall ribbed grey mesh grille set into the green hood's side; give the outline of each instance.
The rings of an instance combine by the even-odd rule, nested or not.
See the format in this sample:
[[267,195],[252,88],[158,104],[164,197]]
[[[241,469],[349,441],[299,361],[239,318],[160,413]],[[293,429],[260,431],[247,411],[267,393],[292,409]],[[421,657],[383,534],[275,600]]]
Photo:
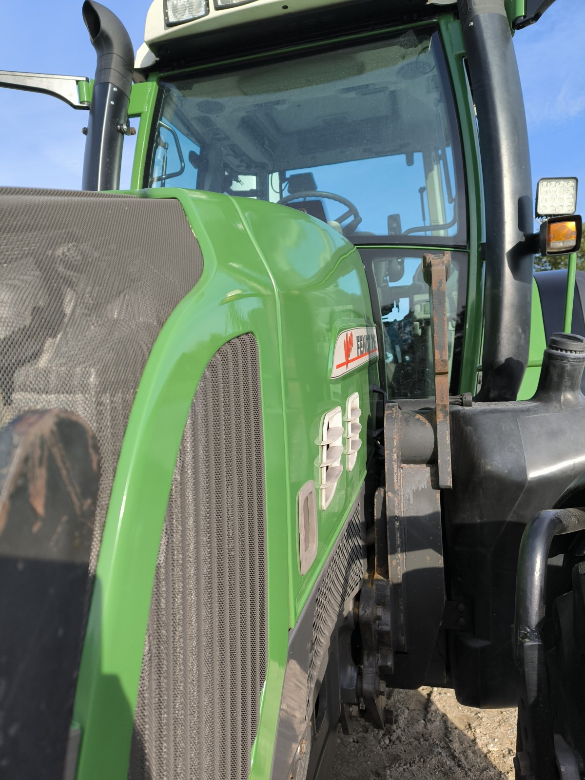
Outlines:
[[131,780],[246,780],[267,662],[257,342],[201,378],[179,449],[144,644]]

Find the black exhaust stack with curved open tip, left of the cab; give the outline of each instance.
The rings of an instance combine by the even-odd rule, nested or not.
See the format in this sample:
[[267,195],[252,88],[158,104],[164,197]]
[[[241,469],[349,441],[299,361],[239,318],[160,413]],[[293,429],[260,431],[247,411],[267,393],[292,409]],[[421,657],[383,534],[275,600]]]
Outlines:
[[104,5],[85,0],[83,21],[97,53],[97,65],[81,186],[83,190],[116,190],[124,141],[120,128],[128,119],[134,50],[126,27]]

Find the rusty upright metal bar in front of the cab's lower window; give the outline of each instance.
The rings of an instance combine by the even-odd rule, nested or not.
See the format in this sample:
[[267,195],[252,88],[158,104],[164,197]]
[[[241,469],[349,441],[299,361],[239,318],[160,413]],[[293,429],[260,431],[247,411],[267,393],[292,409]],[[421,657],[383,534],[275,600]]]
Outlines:
[[447,341],[447,290],[451,253],[424,254],[424,281],[431,288],[434,363],[434,430],[437,441],[439,488],[452,488],[451,429],[449,427],[449,342]]

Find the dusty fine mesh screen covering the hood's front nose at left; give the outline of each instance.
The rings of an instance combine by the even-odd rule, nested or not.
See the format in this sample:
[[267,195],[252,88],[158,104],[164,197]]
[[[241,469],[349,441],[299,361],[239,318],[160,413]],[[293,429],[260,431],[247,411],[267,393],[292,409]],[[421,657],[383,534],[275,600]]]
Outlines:
[[177,200],[0,188],[0,427],[26,410],[94,429],[94,570],[122,437],[154,339],[200,278]]

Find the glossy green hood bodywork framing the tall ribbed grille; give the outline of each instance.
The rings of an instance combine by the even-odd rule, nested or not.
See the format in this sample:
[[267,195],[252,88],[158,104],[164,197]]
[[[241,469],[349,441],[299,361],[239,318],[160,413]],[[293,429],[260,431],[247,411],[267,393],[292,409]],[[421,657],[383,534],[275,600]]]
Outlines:
[[76,691],[73,719],[82,729],[76,776],[126,778],[154,570],[186,417],[211,357],[229,339],[252,332],[260,349],[264,418],[268,673],[250,777],[268,778],[289,626],[365,477],[363,440],[355,468],[344,471],[332,504],[319,514],[317,558],[301,577],[297,491],[317,480],[321,418],[357,391],[362,438],[368,427],[375,363],[329,379],[340,323],[371,323],[366,277],[353,246],[292,209],[170,188],[137,194],[183,204],[204,271],[154,343],[126,427]]

